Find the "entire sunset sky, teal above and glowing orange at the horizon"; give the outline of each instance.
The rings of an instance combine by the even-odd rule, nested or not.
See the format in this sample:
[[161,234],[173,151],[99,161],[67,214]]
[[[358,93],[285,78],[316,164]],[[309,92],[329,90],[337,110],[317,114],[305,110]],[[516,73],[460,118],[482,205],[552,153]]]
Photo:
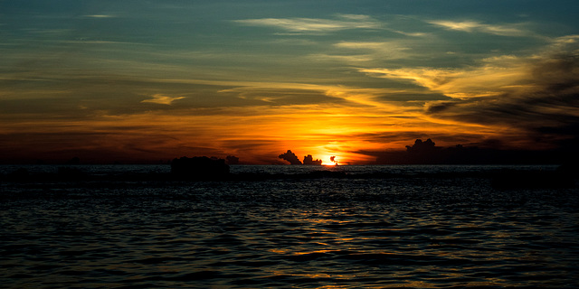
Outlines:
[[0,0],[0,163],[579,139],[579,3]]

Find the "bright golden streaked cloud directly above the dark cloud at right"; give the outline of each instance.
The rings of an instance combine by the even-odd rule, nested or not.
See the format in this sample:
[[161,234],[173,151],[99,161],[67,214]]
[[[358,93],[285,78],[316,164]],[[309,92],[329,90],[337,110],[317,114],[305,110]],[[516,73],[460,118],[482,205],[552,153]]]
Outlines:
[[[456,99],[496,97],[518,91],[535,91],[543,83],[571,83],[576,77],[579,35],[559,37],[542,51],[527,56],[500,55],[479,61],[479,66],[462,69],[438,68],[361,68],[360,72],[384,79],[411,81],[423,88]],[[566,60],[565,60],[566,59]],[[549,63],[568,63],[568,73]],[[541,75],[542,77],[538,77]]]

